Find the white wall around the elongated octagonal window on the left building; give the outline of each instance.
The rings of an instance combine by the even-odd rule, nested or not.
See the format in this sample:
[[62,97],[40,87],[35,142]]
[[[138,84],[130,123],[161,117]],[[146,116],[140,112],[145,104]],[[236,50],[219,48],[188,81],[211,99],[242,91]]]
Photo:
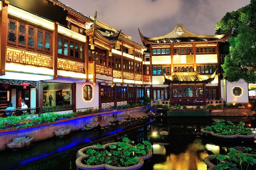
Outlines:
[[[89,101],[83,99],[83,86],[85,86],[85,84],[92,86],[92,99]],[[76,109],[91,107],[99,108],[99,84],[96,83],[96,86],[93,86],[90,82],[76,83]]]

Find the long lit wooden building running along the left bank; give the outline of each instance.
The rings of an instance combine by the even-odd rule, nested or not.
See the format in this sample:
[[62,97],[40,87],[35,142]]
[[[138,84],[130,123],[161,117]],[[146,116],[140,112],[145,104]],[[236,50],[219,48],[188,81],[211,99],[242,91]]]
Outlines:
[[[0,1],[0,104],[72,112],[142,100],[145,46],[57,0]],[[40,7],[40,8],[38,8]]]

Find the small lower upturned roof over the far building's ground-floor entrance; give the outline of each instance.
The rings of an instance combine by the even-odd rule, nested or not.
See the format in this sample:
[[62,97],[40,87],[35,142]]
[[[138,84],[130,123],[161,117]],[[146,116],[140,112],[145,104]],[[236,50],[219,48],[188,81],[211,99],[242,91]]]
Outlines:
[[212,75],[201,75],[198,72],[174,72],[173,75],[167,76],[164,73],[164,81],[167,84],[210,83],[214,80],[216,71]]

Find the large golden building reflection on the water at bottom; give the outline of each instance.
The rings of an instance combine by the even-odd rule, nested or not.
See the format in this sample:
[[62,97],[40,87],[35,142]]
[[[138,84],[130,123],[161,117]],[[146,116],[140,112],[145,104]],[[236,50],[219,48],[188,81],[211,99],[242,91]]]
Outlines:
[[201,140],[195,139],[187,149],[180,154],[168,155],[164,163],[155,164],[154,170],[206,170],[204,157],[208,156]]

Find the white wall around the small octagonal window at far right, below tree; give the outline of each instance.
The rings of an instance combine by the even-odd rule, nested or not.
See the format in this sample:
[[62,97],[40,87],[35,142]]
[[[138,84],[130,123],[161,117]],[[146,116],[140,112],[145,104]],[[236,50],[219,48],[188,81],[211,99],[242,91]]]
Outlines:
[[[242,88],[242,94],[240,96],[233,95],[233,88]],[[227,103],[247,103],[248,99],[248,84],[240,79],[238,82],[228,82],[226,81],[226,91],[227,91]]]

